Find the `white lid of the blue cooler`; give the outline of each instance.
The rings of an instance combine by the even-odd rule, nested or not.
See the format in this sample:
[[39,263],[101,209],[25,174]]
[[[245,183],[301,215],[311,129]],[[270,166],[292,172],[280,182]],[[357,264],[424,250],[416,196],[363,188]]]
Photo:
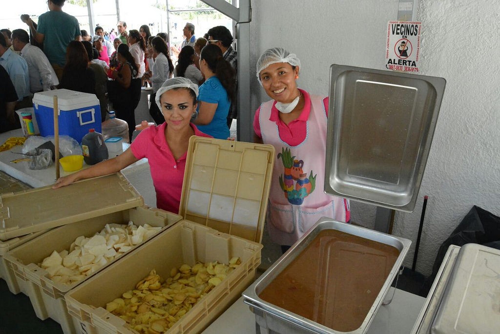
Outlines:
[[99,104],[99,100],[95,94],[69,89],[54,89],[34,93],[33,105],[35,108],[38,108],[38,105],[53,108],[54,96],[57,96],[57,107],[59,110],[73,110]]

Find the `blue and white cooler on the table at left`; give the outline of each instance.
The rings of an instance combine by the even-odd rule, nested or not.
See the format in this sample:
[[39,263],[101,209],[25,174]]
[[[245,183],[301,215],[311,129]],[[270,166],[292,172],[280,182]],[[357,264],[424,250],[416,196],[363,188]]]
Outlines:
[[33,109],[40,135],[54,135],[54,95],[57,95],[60,135],[66,134],[81,142],[90,128],[101,132],[100,106],[95,94],[55,89],[33,95]]

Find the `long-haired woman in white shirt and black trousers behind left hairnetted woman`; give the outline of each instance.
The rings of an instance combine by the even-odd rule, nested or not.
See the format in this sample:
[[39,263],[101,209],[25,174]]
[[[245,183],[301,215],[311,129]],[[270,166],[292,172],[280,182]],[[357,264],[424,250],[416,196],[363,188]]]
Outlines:
[[144,77],[149,79],[153,89],[153,93],[149,96],[149,101],[151,102],[149,106],[149,114],[154,119],[154,122],[157,125],[160,125],[165,121],[165,118],[163,117],[161,110],[158,108],[158,105],[155,103],[156,92],[166,79],[172,77],[173,64],[168,52],[168,46],[166,46],[166,42],[163,38],[158,36],[154,37],[151,40],[151,49],[153,52],[154,62],[151,68],[151,74],[145,73]]

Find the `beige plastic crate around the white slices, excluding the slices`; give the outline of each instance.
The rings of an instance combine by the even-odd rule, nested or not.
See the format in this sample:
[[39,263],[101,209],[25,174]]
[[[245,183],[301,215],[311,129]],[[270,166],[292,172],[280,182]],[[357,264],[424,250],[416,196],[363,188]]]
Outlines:
[[29,296],[38,318],[43,320],[50,317],[61,325],[64,333],[76,333],[77,328],[67,312],[64,294],[81,281],[72,284],[54,282],[48,278],[46,270],[37,263],[49,256],[53,250],[69,249],[74,239],[80,235],[87,237],[94,235],[106,223],[128,223],[132,220],[135,225],[147,223],[168,228],[180,219],[181,216],[178,214],[147,206],[137,206],[53,228],[4,254],[7,270],[15,277],[15,283],[8,287],[12,293],[23,292]]

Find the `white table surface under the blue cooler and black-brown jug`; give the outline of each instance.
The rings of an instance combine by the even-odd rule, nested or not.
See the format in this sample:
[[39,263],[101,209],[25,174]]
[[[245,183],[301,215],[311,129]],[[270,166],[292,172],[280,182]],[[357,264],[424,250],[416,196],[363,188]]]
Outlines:
[[[3,144],[10,137],[21,136],[21,129],[0,133],[0,144]],[[129,144],[123,143],[123,149],[128,148],[128,146]],[[27,161],[20,161],[17,163],[11,162],[16,159],[22,158],[22,155],[12,152],[21,153],[22,146],[17,145],[9,150],[0,152],[0,170],[34,188],[46,186],[55,182],[54,164],[45,169],[32,170],[29,169]],[[83,162],[83,167],[87,168],[88,165]],[[144,199],[144,203],[149,206],[155,207],[156,194],[154,192],[151,173],[149,171],[149,163],[147,162],[147,159],[140,159],[139,161],[123,168],[121,172],[123,173],[123,175],[125,175],[130,184],[132,184],[140,193],[140,195]],[[60,176],[65,176],[70,173],[71,172],[66,172],[62,169],[62,167],[60,167]]]

